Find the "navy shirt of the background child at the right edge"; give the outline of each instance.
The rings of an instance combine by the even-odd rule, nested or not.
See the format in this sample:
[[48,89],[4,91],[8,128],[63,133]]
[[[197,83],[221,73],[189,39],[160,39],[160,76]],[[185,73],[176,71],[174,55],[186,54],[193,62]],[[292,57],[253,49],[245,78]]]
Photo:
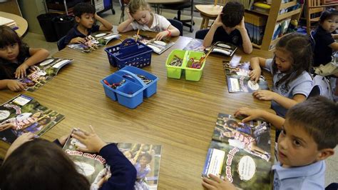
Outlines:
[[[334,31],[332,34],[335,34]],[[320,64],[327,64],[332,60],[332,48],[329,47],[329,44],[334,43],[332,34],[325,31],[322,26],[314,31],[314,41],[316,45],[314,46],[314,66],[319,66]]]

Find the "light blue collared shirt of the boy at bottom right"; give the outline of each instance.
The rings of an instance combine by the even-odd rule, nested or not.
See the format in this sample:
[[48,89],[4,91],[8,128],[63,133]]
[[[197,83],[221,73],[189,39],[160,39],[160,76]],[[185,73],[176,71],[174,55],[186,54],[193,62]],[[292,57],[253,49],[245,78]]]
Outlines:
[[272,166],[274,171],[273,189],[324,189],[325,161],[307,166],[283,168],[280,162]]

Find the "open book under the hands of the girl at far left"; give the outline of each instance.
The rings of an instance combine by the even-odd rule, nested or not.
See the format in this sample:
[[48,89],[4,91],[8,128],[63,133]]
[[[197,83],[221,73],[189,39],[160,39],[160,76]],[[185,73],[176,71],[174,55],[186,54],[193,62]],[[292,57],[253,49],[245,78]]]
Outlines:
[[48,58],[36,66],[31,66],[31,73],[19,79],[26,84],[26,91],[35,91],[58,74],[58,71],[73,59]]

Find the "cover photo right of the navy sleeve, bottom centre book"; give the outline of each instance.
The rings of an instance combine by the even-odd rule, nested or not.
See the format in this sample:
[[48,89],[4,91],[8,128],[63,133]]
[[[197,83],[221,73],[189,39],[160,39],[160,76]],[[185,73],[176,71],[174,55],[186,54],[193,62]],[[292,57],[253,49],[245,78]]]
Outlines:
[[157,189],[162,146],[118,143],[118,149],[135,166],[135,190]]

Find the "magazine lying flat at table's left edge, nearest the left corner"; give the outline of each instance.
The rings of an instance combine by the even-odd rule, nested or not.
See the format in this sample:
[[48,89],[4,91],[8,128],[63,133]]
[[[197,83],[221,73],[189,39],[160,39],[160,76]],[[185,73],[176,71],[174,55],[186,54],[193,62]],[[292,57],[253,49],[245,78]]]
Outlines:
[[0,131],[0,137],[9,144],[26,132],[39,137],[63,118],[34,98],[20,94],[0,106],[0,125],[11,124],[11,128]]

